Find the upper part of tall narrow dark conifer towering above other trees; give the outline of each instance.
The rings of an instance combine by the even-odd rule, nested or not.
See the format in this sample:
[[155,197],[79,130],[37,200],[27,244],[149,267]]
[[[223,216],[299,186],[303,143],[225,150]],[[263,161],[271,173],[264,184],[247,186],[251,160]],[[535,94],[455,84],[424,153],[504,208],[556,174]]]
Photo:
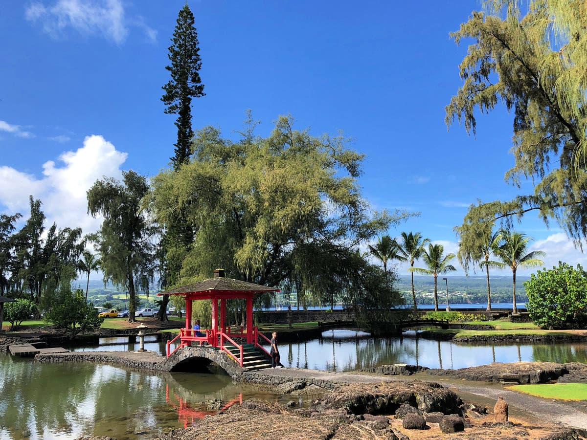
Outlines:
[[204,96],[204,84],[200,79],[200,47],[198,33],[194,27],[194,15],[187,5],[178,14],[177,26],[169,46],[168,58],[170,66],[165,68],[170,72],[171,80],[163,86],[165,91],[161,101],[167,106],[165,113],[178,114],[177,143],[175,155],[171,157],[173,166],[177,170],[181,165],[188,163],[190,143],[194,136],[191,128],[191,99]]

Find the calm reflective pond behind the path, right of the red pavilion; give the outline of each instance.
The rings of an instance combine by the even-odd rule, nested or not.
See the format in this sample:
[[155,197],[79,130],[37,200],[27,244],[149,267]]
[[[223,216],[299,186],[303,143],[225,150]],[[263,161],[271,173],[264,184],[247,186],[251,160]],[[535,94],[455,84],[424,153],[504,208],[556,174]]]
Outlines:
[[402,337],[372,338],[354,330],[329,330],[312,341],[282,344],[288,367],[350,371],[405,363],[430,368],[465,368],[492,362],[549,361],[587,363],[587,344],[485,343],[460,345],[422,339],[414,331]]

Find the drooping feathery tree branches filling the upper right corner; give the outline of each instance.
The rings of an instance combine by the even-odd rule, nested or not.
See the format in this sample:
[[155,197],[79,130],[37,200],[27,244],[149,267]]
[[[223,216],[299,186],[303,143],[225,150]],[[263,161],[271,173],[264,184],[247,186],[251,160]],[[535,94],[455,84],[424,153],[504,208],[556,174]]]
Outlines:
[[531,0],[522,13],[514,0],[492,4],[451,33],[457,44],[473,43],[446,122],[458,120],[475,134],[478,114],[504,104],[512,112],[515,158],[505,179],[518,188],[532,180],[534,191],[472,205],[464,225],[500,219],[510,228],[514,218],[535,211],[581,239],[587,235],[587,6]]

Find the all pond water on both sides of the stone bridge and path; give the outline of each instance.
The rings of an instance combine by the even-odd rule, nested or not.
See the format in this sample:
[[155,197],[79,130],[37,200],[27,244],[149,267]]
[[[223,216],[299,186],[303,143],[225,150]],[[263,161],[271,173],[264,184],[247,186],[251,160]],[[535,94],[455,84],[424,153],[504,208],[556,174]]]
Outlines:
[[[96,347],[75,350],[134,350],[126,338],[103,338]],[[165,343],[147,337],[145,346],[163,354]],[[406,332],[401,338],[372,338],[355,330],[329,330],[319,339],[279,345],[286,367],[348,371],[407,363],[462,368],[493,361],[587,363],[587,344],[475,344],[433,341]],[[205,401],[251,397],[286,402],[291,396],[252,384],[232,383],[220,374],[139,373],[110,365],[36,364],[0,354],[0,438],[53,439],[107,435],[151,438],[191,425],[209,414]],[[308,400],[310,400],[308,398]],[[307,404],[308,401],[301,401]]]

